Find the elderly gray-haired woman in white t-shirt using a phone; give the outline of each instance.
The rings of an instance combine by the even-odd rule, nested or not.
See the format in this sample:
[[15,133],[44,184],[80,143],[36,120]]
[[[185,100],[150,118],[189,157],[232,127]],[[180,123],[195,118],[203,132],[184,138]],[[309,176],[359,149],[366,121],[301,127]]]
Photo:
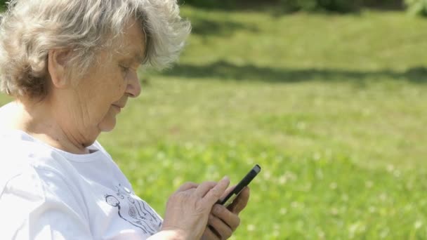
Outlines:
[[175,0],[15,0],[0,25],[0,239],[226,239],[245,189],[185,183],[162,219],[96,141],[137,69],[176,59],[190,32]]

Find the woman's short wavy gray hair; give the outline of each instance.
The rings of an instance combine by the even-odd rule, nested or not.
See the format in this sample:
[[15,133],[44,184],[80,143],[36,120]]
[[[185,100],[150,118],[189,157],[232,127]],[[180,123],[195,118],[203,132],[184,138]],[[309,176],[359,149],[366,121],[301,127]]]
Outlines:
[[176,0],[9,1],[0,23],[0,91],[45,97],[51,49],[71,49],[70,76],[81,77],[131,18],[145,33],[141,63],[162,69],[178,58],[190,23],[180,18]]

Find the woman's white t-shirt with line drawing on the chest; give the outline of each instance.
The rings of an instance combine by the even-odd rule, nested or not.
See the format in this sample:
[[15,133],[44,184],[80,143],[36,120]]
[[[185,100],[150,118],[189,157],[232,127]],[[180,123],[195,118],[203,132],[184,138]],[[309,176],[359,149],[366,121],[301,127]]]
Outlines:
[[162,218],[98,142],[70,154],[0,130],[0,239],[147,239]]

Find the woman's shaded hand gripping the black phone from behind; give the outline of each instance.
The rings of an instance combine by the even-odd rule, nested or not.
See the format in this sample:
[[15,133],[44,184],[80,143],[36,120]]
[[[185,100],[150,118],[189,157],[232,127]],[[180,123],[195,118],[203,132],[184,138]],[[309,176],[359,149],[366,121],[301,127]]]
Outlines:
[[[234,187],[230,187],[222,198],[232,189],[234,189]],[[244,207],[247,206],[248,200],[249,187],[245,187],[228,208],[220,204],[215,204],[209,215],[208,227],[204,230],[202,239],[228,239],[232,233],[235,232],[237,227],[239,227],[240,218],[238,215]]]

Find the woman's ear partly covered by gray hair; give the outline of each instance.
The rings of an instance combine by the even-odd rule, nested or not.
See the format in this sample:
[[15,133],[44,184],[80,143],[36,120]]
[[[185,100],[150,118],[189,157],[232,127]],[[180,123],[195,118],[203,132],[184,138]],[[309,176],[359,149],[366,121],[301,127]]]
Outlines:
[[70,55],[71,51],[64,49],[52,49],[48,53],[48,73],[55,88],[65,88],[70,84],[65,70]]

